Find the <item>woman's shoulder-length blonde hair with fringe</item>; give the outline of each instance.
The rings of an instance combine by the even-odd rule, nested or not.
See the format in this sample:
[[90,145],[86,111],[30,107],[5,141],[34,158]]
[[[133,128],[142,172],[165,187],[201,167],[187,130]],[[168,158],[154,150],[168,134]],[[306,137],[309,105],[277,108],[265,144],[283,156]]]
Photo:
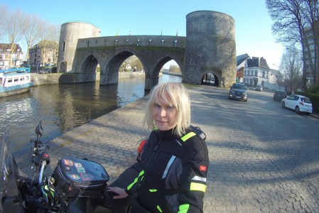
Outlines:
[[183,136],[190,126],[190,98],[184,85],[166,82],[153,87],[144,116],[144,122],[150,129],[156,129],[152,114],[156,99],[162,99],[166,104],[177,109],[175,133],[178,136]]

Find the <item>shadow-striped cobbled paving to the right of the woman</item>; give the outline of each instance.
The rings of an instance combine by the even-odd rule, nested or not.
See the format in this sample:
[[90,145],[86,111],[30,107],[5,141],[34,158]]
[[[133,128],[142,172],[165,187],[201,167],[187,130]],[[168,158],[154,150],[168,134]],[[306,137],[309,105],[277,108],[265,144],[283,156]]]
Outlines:
[[195,92],[195,121],[210,130],[207,212],[319,212],[319,119],[281,108],[272,92],[227,94]]

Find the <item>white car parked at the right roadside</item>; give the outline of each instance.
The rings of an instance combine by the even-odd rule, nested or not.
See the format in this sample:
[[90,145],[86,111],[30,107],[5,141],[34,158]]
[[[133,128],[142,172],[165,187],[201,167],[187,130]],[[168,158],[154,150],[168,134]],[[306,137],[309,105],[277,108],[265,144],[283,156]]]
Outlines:
[[306,114],[313,113],[313,104],[311,104],[310,99],[308,97],[304,97],[302,95],[293,94],[287,98],[281,100],[281,107],[289,108],[299,112],[306,112]]

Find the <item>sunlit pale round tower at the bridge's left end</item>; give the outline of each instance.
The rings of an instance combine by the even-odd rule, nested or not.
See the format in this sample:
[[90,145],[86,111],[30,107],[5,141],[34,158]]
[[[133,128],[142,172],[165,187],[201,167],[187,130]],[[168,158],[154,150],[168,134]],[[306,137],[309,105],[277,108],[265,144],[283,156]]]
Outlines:
[[63,23],[60,31],[58,72],[71,72],[77,41],[80,38],[99,37],[100,29],[91,23]]

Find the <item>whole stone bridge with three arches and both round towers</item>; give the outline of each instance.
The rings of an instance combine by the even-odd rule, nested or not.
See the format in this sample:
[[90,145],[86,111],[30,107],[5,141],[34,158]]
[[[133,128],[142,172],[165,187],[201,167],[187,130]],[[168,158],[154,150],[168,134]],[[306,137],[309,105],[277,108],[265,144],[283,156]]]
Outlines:
[[235,82],[234,19],[225,13],[195,11],[186,16],[186,21],[186,37],[99,37],[99,28],[90,23],[64,23],[58,72],[75,72],[79,74],[79,82],[92,82],[99,65],[99,84],[117,84],[121,64],[136,55],[144,66],[146,90],[158,84],[161,67],[170,60],[180,67],[185,83],[201,84],[209,73],[214,75],[216,86],[228,87]]

